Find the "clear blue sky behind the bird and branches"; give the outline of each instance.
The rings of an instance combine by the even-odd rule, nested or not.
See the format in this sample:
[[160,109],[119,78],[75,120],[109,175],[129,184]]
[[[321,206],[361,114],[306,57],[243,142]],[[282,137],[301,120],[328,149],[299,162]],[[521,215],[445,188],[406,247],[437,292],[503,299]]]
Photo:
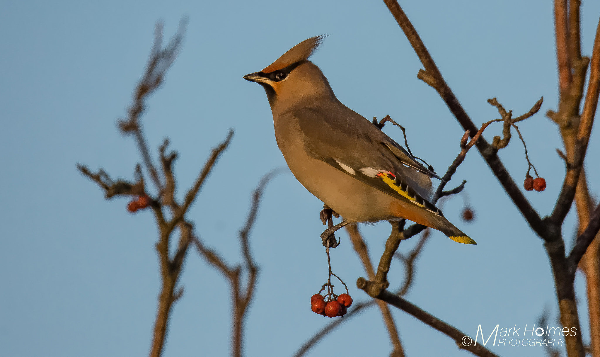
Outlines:
[[[541,215],[554,205],[564,173],[555,148],[557,106],[553,8],[545,1],[401,2],[476,124],[498,118],[486,103],[497,97],[523,113],[540,97],[539,113],[519,125],[530,159],[547,181],[526,193]],[[592,50],[600,3],[581,8],[583,53]],[[329,34],[313,56],[337,97],[366,118],[390,115],[404,125],[412,151],[438,173],[458,153],[460,126],[436,92],[416,79],[421,64],[383,2],[364,1],[7,1],[0,2],[0,355],[139,356],[151,341],[160,287],[151,212],[128,214],[127,199],[103,192],[75,169],[103,167],[133,178],[140,161],[131,137],[116,122],[131,103],[152,45],[154,25],[165,38],[189,19],[185,44],[163,85],[148,99],[143,130],[154,150],[164,137],[179,152],[178,196],[198,175],[210,149],[236,133],[188,212],[196,232],[227,262],[241,261],[238,230],[262,175],[285,165],[273,134],[264,91],[242,80],[305,38]],[[391,126],[384,131],[401,141]],[[488,140],[500,134],[488,128]],[[527,164],[513,137],[500,157],[516,181]],[[587,175],[598,197],[598,130],[590,140]],[[236,175],[230,175],[235,172]],[[451,184],[468,181],[473,223],[460,220],[463,200],[445,215],[477,242],[467,246],[434,232],[416,262],[409,301],[475,335],[496,324],[529,327],[544,307],[556,322],[556,298],[542,241],[529,230],[475,151]],[[290,173],[266,189],[251,248],[260,266],[248,311],[245,356],[292,355],[330,320],[308,300],[326,281],[318,219],[322,203]],[[570,247],[575,217],[564,229]],[[292,228],[290,228],[290,226]],[[389,224],[361,226],[374,261]],[[355,301],[364,276],[346,233],[332,251],[334,271]],[[416,239],[403,242],[407,251]],[[392,265],[391,286],[403,270]],[[182,299],[172,310],[164,356],[229,355],[230,290],[193,250],[185,260]],[[585,285],[576,289],[587,341]],[[464,356],[454,342],[392,310],[408,356]],[[488,332],[489,333],[489,332]],[[544,356],[541,347],[491,347],[505,356]],[[391,344],[375,308],[353,317],[309,356],[388,355]]]

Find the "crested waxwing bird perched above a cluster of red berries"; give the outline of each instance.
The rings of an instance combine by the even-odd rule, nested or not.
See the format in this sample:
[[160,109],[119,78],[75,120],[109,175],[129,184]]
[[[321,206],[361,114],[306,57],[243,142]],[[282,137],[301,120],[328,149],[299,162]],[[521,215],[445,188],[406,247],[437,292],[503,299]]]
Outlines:
[[476,244],[429,201],[433,172],[373,122],[340,103],[308,61],[324,36],[308,38],[244,79],[265,91],[275,139],[296,179],[347,223],[407,220]]

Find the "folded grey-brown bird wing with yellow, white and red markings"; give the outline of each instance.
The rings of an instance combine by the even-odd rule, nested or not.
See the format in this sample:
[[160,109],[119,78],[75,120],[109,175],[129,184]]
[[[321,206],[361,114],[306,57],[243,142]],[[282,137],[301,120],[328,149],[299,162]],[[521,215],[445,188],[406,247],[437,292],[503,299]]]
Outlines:
[[[335,117],[326,113],[335,113]],[[392,197],[441,215],[428,202],[428,170],[361,115],[343,106],[303,108],[293,117],[313,157]]]

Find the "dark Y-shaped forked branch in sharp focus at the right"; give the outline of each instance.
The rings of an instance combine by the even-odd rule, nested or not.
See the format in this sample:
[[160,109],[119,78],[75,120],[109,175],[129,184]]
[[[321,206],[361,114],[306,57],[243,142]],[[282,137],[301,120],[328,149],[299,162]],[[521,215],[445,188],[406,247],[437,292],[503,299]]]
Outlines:
[[[398,2],[396,0],[383,1],[386,5],[388,5],[389,10],[397,20],[398,25],[400,25],[400,27],[403,29],[404,34],[406,34],[410,44],[413,46],[413,49],[415,49],[419,59],[421,59],[421,62],[425,66],[425,71],[419,71],[419,79],[422,79],[429,85],[433,86],[463,128],[465,130],[470,130],[471,133],[473,133],[475,130],[475,125],[470,120],[469,116],[467,116],[466,112],[464,112],[457,98],[443,80],[443,77],[434,64],[431,55],[428,53],[421,41],[421,38],[419,38],[415,28],[406,17],[406,14],[404,14],[404,11],[402,11],[400,8]],[[597,46],[597,44],[598,41],[600,41],[600,36],[598,36],[599,32],[600,23],[596,34],[593,50],[594,53],[592,55],[592,62],[596,60],[596,68],[592,68],[591,71],[596,71],[596,73],[594,75],[590,73],[590,85],[586,95],[586,103],[584,104],[584,114],[581,118],[581,123],[583,125],[580,124],[580,127],[578,128],[579,133],[577,135],[577,140],[581,141],[578,143],[578,145],[575,145],[573,155],[574,158],[579,159],[574,160],[574,163],[577,164],[579,164],[580,161],[583,162],[583,154],[587,148],[587,139],[589,139],[589,131],[591,129],[593,113],[595,112],[598,103],[598,82],[600,81],[600,78],[598,77],[598,67],[600,67],[600,62],[598,62],[600,59],[598,58],[598,55],[600,53],[597,51],[600,51],[600,46]],[[592,67],[595,67],[594,64],[592,64]],[[583,135],[581,135],[582,133]],[[497,151],[494,150],[494,148],[491,148],[491,146],[483,139],[479,140],[477,146],[479,152],[482,154],[482,157],[484,157],[484,160],[488,163],[488,166],[490,166],[490,169],[494,172],[494,175],[499,179],[500,183],[505,188],[505,191],[508,193],[509,197],[511,197],[512,202],[514,202],[517,208],[521,211],[521,214],[523,214],[524,218],[527,220],[527,223],[529,223],[530,227],[532,227],[532,229],[545,240],[545,249],[547,250],[548,257],[550,257],[550,262],[553,269],[557,299],[560,301],[562,324],[566,328],[577,328],[577,331],[579,331],[580,325],[577,316],[577,305],[575,304],[573,287],[574,275],[571,274],[572,269],[570,269],[568,261],[565,257],[564,241],[560,236],[560,225],[562,225],[566,212],[569,211],[571,206],[575,194],[575,187],[577,186],[579,170],[568,170],[565,184],[563,184],[563,189],[561,190],[559,200],[557,200],[553,215],[551,218],[545,218],[542,221],[541,217],[539,217],[539,214],[535,211],[535,209],[533,209],[527,199],[525,199],[523,193],[517,187],[514,180],[511,178],[508,171],[499,160]],[[580,334],[576,335],[575,337],[566,337],[566,346],[569,355],[583,355],[583,343],[581,341]]]

